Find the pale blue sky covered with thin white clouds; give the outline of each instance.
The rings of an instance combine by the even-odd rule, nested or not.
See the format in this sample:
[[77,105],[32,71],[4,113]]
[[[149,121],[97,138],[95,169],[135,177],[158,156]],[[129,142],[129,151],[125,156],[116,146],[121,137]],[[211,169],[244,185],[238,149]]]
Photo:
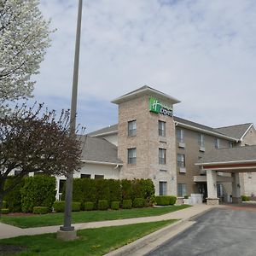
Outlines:
[[[41,0],[51,47],[34,99],[70,108],[78,1]],[[111,101],[148,85],[176,97],[174,114],[219,127],[256,124],[255,0],[84,0],[78,123],[118,122]]]

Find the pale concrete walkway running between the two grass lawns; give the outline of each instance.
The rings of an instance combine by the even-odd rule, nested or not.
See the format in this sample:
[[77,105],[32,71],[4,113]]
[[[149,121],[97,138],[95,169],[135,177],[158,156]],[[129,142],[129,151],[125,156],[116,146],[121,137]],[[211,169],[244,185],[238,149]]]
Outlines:
[[[98,221],[82,224],[73,224],[76,230],[93,229],[108,226],[118,226],[125,224],[137,224],[137,223],[147,223],[166,219],[181,219],[182,221],[188,220],[189,218],[195,217],[198,214],[210,210],[212,207],[207,205],[195,205],[194,207],[189,207],[177,212],[170,212],[160,216],[143,217],[143,218],[125,218],[118,220],[109,221]],[[10,238],[15,236],[33,236],[46,233],[55,233],[60,230],[60,225],[57,226],[47,226],[39,228],[29,228],[20,229],[8,224],[0,223],[0,239]]]

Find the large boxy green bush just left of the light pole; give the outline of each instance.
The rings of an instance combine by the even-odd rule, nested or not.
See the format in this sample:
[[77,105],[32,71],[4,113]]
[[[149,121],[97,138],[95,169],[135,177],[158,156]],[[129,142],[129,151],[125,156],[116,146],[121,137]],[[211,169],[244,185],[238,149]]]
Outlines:
[[21,192],[22,212],[32,212],[33,207],[48,207],[51,209],[55,201],[55,177],[36,175],[26,177]]

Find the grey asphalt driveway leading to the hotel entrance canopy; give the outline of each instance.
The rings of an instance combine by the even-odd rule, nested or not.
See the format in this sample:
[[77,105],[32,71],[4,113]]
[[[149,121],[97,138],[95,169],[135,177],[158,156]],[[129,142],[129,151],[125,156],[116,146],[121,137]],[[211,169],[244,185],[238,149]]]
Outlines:
[[256,255],[256,211],[251,207],[214,208],[194,220],[188,230],[146,255]]

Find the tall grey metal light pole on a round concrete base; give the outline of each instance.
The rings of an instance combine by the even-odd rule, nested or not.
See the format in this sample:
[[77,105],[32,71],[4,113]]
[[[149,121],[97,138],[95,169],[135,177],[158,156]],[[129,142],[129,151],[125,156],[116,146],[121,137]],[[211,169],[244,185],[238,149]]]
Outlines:
[[[82,6],[83,6],[83,0],[79,0],[75,56],[74,56],[74,65],[73,65],[73,89],[72,89],[71,113],[70,113],[70,137],[76,136],[75,131],[76,131],[77,96],[78,96],[78,81],[79,81],[79,50],[80,50]],[[73,240],[73,239],[76,239],[77,237],[76,235],[77,232],[76,230],[74,230],[74,227],[71,225],[72,194],[73,194],[73,171],[67,174],[64,225],[60,227],[60,230],[57,233],[57,237],[62,240]]]

